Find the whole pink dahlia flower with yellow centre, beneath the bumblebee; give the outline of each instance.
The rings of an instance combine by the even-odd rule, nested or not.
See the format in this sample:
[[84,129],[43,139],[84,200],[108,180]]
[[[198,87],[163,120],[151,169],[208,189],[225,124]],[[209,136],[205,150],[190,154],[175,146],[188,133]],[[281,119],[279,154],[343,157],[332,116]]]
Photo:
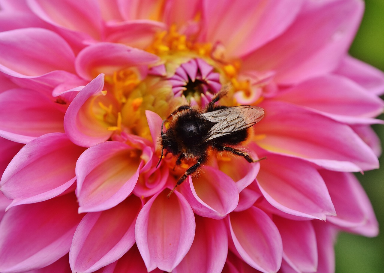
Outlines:
[[[0,272],[328,273],[339,230],[377,235],[361,0],[0,5]],[[209,149],[168,199],[196,159],[157,166],[162,120],[223,86],[264,109],[238,149],[266,159]]]

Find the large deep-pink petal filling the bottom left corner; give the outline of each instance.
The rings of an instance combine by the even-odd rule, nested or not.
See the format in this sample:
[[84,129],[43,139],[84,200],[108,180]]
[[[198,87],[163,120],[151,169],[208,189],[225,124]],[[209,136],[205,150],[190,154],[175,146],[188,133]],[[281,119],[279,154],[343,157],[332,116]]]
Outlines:
[[41,268],[68,253],[83,217],[76,210],[74,194],[8,210],[0,223],[0,271]]

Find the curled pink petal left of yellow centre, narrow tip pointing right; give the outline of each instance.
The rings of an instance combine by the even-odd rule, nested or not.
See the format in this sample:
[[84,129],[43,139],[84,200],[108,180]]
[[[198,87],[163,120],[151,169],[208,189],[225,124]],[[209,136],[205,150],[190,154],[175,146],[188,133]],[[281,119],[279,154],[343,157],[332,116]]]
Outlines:
[[[108,53],[108,54],[106,54]],[[159,57],[144,50],[116,43],[96,43],[84,48],[76,57],[77,73],[84,79],[93,79],[100,73],[113,74],[130,66],[156,63]]]

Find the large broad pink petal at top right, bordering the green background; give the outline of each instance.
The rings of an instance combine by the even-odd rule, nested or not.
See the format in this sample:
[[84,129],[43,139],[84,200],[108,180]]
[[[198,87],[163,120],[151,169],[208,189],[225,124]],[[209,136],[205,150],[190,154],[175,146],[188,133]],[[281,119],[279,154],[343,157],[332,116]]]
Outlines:
[[242,69],[276,71],[281,84],[329,73],[348,50],[363,9],[361,1],[308,2],[288,30],[243,58]]

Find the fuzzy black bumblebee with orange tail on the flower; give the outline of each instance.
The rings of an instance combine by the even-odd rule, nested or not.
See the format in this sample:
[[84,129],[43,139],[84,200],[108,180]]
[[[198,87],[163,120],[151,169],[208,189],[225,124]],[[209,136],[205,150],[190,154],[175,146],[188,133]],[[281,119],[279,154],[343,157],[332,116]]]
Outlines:
[[[180,106],[162,122],[162,149],[157,166],[164,155],[164,149],[177,156],[176,165],[180,165],[183,159],[196,160],[194,165],[185,170],[184,175],[167,195],[168,198],[178,185],[208,161],[211,149],[242,156],[250,163],[258,161],[233,146],[238,146],[247,139],[248,129],[263,118],[264,110],[250,105],[215,105],[225,94],[225,91],[217,93],[205,109],[192,108],[189,105]],[[166,132],[163,132],[164,122],[169,122]]]

